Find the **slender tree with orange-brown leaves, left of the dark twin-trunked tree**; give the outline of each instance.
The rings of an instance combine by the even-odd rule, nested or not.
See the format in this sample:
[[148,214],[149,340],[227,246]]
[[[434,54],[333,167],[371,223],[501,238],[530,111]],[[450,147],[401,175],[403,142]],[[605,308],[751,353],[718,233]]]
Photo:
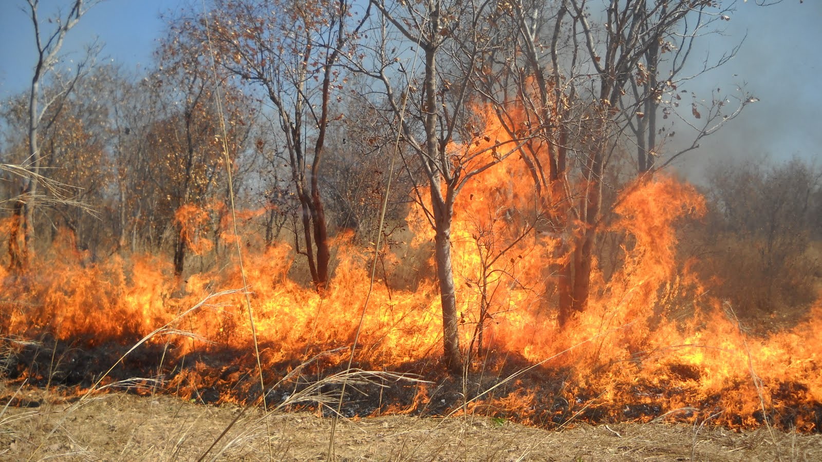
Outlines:
[[[164,219],[174,225],[176,275],[182,275],[195,241],[201,241],[209,221],[206,206],[220,196],[217,188],[226,181],[226,169],[234,169],[256,117],[254,104],[229,79],[215,81],[200,53],[204,49],[207,43],[196,36],[172,32],[159,49],[159,71],[152,76],[165,104],[164,118],[155,122],[149,138],[150,152],[159,156],[152,176],[167,199]],[[228,192],[223,197],[228,199]]]

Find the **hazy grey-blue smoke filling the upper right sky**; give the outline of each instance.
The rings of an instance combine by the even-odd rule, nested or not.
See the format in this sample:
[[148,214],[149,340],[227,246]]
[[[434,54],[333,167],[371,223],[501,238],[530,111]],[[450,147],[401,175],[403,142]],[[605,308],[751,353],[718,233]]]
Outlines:
[[[701,182],[705,169],[717,161],[767,157],[781,162],[796,156],[812,162],[822,145],[816,128],[822,105],[822,3],[787,0],[774,7],[754,2],[737,7],[722,35],[704,37],[691,64],[700,66],[705,56],[718,58],[745,37],[737,56],[683,87],[700,99],[710,99],[717,88],[732,95],[739,87],[759,101],[677,163],[691,181]],[[687,135],[669,144],[669,152],[690,143],[692,133],[682,133]]]

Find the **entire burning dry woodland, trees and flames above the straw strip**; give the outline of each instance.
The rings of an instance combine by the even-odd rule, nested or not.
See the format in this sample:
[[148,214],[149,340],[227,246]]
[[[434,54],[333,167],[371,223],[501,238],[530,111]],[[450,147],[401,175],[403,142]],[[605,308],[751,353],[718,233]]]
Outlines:
[[205,0],[139,71],[64,58],[98,2],[63,3],[18,2],[34,73],[0,105],[3,435],[27,394],[106,390],[822,430],[822,171],[676,170],[757,101],[695,90],[741,3]]

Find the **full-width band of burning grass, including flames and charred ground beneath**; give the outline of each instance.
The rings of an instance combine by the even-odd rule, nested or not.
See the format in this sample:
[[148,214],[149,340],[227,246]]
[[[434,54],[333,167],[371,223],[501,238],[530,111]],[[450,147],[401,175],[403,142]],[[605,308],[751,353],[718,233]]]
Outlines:
[[[690,264],[677,261],[674,224],[703,208],[693,188],[660,177],[626,192],[610,231],[624,236],[619,264],[594,275],[589,307],[559,326],[553,276],[545,274],[557,258],[556,237],[512,238],[510,223],[483,215],[503,198],[525,201],[501,196],[513,174],[487,178],[455,222],[460,341],[470,348],[463,376],[446,375],[439,363],[436,285],[386,282],[372,291],[353,357],[355,367],[383,375],[345,398],[345,417],[461,413],[548,428],[666,420],[822,429],[822,304],[790,329],[757,335],[733,307],[710,298]],[[425,233],[415,237],[404,252],[423,252]],[[498,246],[509,253],[489,266],[483,252]],[[289,277],[287,245],[246,256],[265,393],[245,293],[213,294],[242,287],[231,257],[175,280],[158,257],[91,263],[71,245],[53,247],[28,273],[0,274],[4,335],[39,340],[7,343],[14,353],[8,377],[68,394],[127,386],[201,403],[259,404],[265,396],[266,405],[329,413],[318,396],[341,388],[329,377],[348,361],[373,253],[344,238],[336,249],[335,279],[322,295]],[[403,265],[397,249],[381,257],[389,267]],[[305,390],[314,399],[289,402]]]

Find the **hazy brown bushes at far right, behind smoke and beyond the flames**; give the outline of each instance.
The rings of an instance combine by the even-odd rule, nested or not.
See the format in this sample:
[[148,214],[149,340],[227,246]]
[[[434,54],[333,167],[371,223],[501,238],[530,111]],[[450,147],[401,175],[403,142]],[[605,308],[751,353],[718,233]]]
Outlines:
[[820,271],[808,252],[818,233],[820,169],[800,159],[782,164],[749,159],[713,164],[707,180],[713,207],[703,265],[718,281],[712,290],[743,313],[810,303]]

